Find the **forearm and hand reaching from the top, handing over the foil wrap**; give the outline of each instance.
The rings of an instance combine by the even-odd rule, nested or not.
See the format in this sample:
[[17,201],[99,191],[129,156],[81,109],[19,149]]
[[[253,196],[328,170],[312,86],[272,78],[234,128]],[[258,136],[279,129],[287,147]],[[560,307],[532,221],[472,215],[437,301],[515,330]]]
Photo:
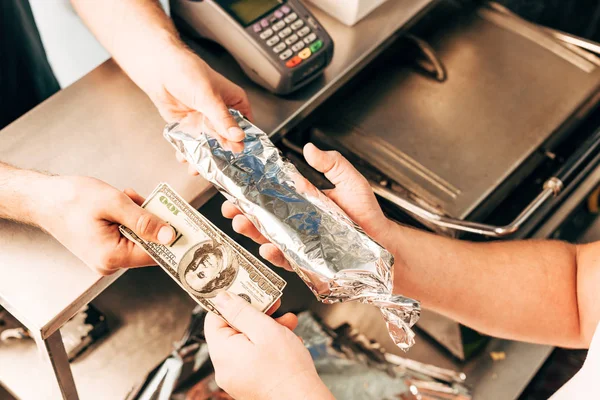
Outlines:
[[190,113],[215,132],[244,138],[228,108],[252,118],[246,93],[188,49],[155,0],[71,0],[81,18],[168,122]]

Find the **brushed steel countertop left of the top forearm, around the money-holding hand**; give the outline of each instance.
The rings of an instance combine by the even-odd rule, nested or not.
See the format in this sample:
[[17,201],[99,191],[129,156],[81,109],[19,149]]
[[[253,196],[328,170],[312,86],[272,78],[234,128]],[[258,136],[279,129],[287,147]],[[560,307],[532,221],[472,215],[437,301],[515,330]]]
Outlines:
[[[162,138],[164,122],[113,61],[0,132],[0,160],[64,175],[89,175],[148,194],[169,182],[188,200],[211,185],[191,178]],[[0,220],[0,304],[42,337],[114,281],[38,229]]]

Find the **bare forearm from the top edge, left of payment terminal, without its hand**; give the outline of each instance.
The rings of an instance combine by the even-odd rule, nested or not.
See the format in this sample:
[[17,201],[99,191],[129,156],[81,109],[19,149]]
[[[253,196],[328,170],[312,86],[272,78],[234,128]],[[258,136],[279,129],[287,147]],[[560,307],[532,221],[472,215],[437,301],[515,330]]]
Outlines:
[[100,43],[151,97],[162,57],[187,51],[157,0],[71,0]]

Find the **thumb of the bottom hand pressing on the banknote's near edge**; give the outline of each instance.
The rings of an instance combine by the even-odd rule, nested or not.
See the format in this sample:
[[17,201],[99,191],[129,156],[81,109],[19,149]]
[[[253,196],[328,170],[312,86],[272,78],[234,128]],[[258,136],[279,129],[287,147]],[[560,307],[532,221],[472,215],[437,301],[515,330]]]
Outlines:
[[271,317],[261,313],[235,294],[221,292],[213,298],[213,303],[229,325],[235,327],[254,343],[268,337],[269,331],[275,324]]

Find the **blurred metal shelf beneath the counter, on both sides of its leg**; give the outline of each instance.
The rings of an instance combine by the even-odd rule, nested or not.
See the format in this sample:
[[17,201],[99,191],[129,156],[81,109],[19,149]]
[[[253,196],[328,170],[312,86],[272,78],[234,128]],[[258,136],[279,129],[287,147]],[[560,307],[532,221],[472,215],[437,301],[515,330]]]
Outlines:
[[[80,398],[123,399],[171,352],[195,304],[158,267],[123,275],[94,301],[110,332],[71,363]],[[33,340],[0,345],[0,381],[20,399],[57,398],[44,367]]]

